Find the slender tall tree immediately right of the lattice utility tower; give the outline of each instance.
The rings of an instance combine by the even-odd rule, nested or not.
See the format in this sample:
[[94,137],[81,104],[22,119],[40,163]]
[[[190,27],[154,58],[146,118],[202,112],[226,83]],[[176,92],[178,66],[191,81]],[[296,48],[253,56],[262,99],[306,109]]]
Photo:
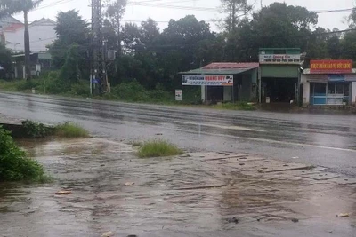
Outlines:
[[121,54],[121,20],[124,16],[127,0],[108,0],[108,8],[106,9],[105,16],[107,23],[114,28],[117,35],[117,54]]

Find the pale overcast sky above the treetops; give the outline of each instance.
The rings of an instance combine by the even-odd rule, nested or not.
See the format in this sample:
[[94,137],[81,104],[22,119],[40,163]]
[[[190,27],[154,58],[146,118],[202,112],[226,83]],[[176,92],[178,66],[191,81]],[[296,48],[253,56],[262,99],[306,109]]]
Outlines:
[[[261,0],[248,0],[250,4],[255,3],[255,10],[261,7]],[[286,2],[287,4],[301,5],[307,7],[309,10],[336,10],[346,9],[355,6],[356,0],[262,0],[263,5],[268,5],[274,2]],[[69,11],[77,9],[80,14],[87,20],[91,18],[90,4],[91,0],[44,0],[44,2],[34,12],[30,12],[29,20],[39,20],[41,18],[50,18],[55,20],[55,16],[59,11]],[[169,4],[178,6],[189,6],[192,8],[217,8],[220,6],[220,0],[129,0],[129,3],[152,3],[152,4]],[[200,9],[201,10],[201,9]],[[199,11],[180,10],[172,8],[160,8],[140,6],[137,4],[128,4],[126,7],[124,20],[146,20],[151,17],[157,21],[168,21],[170,19],[179,20],[187,14],[194,14],[198,20],[220,20],[223,15],[218,11]],[[319,15],[319,26],[323,28],[347,28],[344,18],[350,12],[332,12],[323,13]],[[21,15],[16,16],[17,19],[22,20]],[[140,23],[140,22],[137,22]],[[218,30],[216,22],[209,22],[214,30]],[[165,22],[159,22],[159,28],[166,28]]]

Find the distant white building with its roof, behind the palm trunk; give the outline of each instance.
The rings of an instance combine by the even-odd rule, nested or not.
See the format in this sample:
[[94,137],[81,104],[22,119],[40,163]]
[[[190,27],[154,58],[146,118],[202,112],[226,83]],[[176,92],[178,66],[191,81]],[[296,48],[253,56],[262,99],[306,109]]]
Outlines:
[[[25,51],[24,24],[13,17],[7,17],[0,20],[0,26],[2,26],[4,31],[6,48],[13,52]],[[29,45],[31,52],[47,51],[46,46],[53,43],[57,37],[54,28],[55,22],[44,18],[29,24]]]

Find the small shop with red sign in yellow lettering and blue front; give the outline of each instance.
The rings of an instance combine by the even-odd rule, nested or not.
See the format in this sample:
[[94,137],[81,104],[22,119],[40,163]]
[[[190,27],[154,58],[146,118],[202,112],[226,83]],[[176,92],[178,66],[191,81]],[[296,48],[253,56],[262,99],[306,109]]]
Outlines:
[[352,60],[312,60],[303,71],[303,106],[342,106],[356,102]]

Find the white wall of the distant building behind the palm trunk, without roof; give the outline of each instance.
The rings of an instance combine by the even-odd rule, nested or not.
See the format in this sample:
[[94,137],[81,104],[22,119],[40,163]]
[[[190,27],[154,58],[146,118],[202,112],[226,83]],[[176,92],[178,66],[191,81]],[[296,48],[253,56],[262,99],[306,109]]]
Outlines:
[[[29,45],[31,51],[46,51],[45,47],[48,44],[53,43],[56,38],[54,25],[44,26],[29,26]],[[15,52],[25,51],[24,45],[24,28],[20,28],[16,31],[4,31],[6,39],[6,47]]]

